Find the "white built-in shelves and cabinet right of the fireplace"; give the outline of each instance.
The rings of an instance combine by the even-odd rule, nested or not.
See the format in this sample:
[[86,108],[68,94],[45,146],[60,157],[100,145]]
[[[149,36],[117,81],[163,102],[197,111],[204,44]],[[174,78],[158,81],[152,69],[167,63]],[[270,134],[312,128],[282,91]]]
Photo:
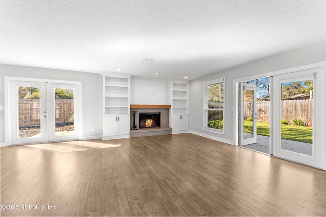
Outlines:
[[189,130],[189,82],[169,79],[169,101],[171,103],[169,126],[172,133]]

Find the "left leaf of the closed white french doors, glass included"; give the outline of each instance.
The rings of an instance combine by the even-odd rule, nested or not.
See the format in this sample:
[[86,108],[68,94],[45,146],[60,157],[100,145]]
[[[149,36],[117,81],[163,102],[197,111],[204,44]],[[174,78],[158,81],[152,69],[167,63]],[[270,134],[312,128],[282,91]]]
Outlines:
[[47,140],[46,83],[12,81],[12,144]]

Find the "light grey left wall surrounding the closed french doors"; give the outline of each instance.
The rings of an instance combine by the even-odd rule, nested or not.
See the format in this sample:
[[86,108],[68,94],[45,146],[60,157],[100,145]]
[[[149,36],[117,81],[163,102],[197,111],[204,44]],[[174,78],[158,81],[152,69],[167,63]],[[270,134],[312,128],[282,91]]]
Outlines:
[[[103,81],[101,74],[0,64],[0,106],[4,105],[4,77],[81,81],[83,86],[83,138],[102,137]],[[5,142],[4,110],[0,110],[0,143]],[[94,131],[91,131],[91,128]]]

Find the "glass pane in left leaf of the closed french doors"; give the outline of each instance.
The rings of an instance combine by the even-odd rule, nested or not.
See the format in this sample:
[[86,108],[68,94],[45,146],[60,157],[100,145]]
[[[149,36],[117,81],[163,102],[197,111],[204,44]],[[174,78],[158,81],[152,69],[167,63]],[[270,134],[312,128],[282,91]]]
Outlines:
[[41,136],[41,89],[18,87],[18,135],[19,138]]

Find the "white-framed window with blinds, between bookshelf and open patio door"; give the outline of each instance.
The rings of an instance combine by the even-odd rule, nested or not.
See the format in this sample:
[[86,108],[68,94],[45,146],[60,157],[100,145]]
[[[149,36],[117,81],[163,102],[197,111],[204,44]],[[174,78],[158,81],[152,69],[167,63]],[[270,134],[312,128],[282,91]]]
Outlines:
[[224,134],[224,78],[204,82],[204,129]]

